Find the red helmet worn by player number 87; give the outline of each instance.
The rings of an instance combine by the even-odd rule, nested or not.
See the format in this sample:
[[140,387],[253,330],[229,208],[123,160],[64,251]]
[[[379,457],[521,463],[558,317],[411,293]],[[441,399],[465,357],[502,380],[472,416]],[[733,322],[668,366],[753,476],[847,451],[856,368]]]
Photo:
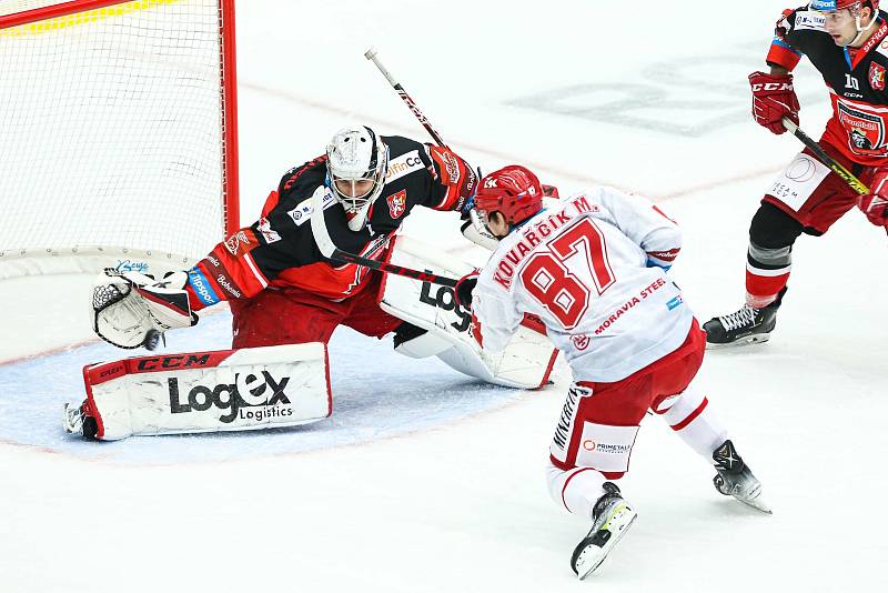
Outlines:
[[475,205],[483,212],[502,212],[507,223],[516,224],[543,208],[543,188],[533,171],[509,164],[484,175]]

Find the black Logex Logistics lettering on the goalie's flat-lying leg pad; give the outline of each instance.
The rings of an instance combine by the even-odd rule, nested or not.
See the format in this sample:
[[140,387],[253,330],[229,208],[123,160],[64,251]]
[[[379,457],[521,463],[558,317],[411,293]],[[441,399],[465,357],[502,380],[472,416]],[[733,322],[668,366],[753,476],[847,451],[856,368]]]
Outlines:
[[270,418],[291,416],[293,408],[290,398],[284,393],[289,382],[289,376],[278,380],[268,371],[262,371],[260,375],[234,373],[233,383],[195,385],[188,393],[182,393],[179,380],[171,376],[167,380],[170,411],[173,414],[189,414],[215,408],[224,412],[219,420],[225,424],[235,419],[244,423],[255,423]]

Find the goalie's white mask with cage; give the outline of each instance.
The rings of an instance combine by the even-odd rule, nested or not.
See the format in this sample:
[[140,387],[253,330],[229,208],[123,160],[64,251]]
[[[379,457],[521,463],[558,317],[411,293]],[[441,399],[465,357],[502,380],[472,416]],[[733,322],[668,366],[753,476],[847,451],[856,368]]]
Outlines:
[[360,231],[385,185],[389,147],[366,125],[353,125],[333,135],[326,157],[330,189],[345,209],[349,228]]

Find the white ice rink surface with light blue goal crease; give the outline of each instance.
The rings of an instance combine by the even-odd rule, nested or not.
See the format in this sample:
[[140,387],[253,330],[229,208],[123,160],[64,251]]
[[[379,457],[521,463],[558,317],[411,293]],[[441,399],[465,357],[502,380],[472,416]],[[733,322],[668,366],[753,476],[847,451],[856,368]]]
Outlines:
[[[424,138],[363,58],[371,44],[453,148],[490,171],[529,163],[563,193],[606,182],[657,199],[685,231],[672,272],[700,320],[736,310],[746,232],[800,149],[749,121],[784,4],[639,0],[239,6],[243,219],[346,119]],[[803,128],[826,91],[803,66]],[[455,217],[407,231],[464,250]],[[639,517],[577,583],[588,525],[543,468],[563,402],[480,385],[389,340],[340,330],[334,416],[295,430],[80,443],[61,433],[90,343],[0,366],[0,591],[881,591],[888,512],[888,238],[857,212],[794,250],[771,342],[707,355],[698,384],[774,507],[718,495],[712,469],[647,419],[620,483]],[[89,340],[89,279],[0,285],[0,360]],[[49,311],[49,313],[47,313]],[[228,314],[170,335],[223,348]]]

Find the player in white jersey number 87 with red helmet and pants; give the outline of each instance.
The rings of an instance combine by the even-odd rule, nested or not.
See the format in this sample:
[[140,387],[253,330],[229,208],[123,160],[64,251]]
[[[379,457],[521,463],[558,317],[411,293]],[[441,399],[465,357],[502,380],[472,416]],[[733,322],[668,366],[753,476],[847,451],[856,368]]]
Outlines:
[[675,222],[609,188],[544,209],[539,181],[518,165],[485,177],[475,203],[500,239],[480,274],[456,289],[471,303],[476,339],[497,351],[535,315],[573,371],[548,488],[557,504],[593,522],[571,559],[577,576],[595,571],[636,517],[613,480],[628,471],[648,410],[715,465],[718,492],[770,512],[706,396],[690,386],[706,335],[666,275],[680,249]]

